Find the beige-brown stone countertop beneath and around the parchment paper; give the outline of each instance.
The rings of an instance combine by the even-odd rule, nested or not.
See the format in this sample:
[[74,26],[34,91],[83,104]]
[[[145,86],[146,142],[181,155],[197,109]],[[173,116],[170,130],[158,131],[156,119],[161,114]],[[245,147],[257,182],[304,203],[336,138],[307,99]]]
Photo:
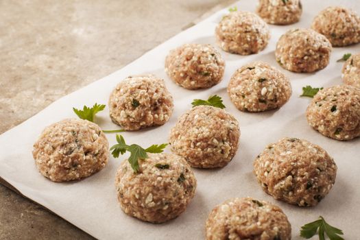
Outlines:
[[[234,2],[0,1],[0,134]],[[0,185],[0,239],[93,237]]]

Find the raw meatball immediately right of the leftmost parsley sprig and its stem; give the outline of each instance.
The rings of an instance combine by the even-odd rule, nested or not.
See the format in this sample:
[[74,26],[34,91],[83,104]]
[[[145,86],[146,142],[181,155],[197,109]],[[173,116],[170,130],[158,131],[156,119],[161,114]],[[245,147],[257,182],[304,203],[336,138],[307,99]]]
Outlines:
[[154,75],[130,76],[109,99],[110,118],[125,130],[163,125],[173,112],[173,97],[164,80]]

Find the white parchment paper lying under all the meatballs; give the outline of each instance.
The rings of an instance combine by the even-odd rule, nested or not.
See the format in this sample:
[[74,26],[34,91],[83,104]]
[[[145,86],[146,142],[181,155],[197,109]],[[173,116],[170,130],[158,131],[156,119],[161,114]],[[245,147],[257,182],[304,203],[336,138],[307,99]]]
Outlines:
[[[256,2],[242,0],[236,5],[240,10],[254,12]],[[62,97],[34,117],[0,136],[1,178],[16,187],[23,195],[49,208],[98,239],[204,239],[204,223],[211,209],[230,197],[245,196],[267,200],[283,208],[291,222],[293,239],[300,239],[300,226],[317,219],[319,215],[344,230],[346,239],[360,239],[360,139],[340,142],[328,139],[312,130],[304,115],[311,99],[299,97],[302,86],[307,84],[314,87],[341,84],[343,63],[337,63],[336,60],[344,53],[360,52],[360,45],[333,49],[328,67],[316,73],[299,74],[285,71],[278,66],[274,58],[276,42],[288,29],[309,27],[315,14],[328,5],[345,5],[360,11],[360,1],[302,0],[302,3],[304,12],[299,23],[289,26],[270,25],[272,38],[268,47],[261,53],[238,56],[221,51],[226,60],[226,72],[224,80],[213,88],[189,91],[177,86],[165,74],[164,61],[170,49],[184,43],[215,45],[215,25],[227,13],[227,9],[167,40],[127,67]],[[230,76],[238,67],[254,60],[263,60],[278,67],[291,79],[293,95],[280,110],[245,113],[237,110],[230,102],[226,93]],[[241,128],[239,151],[232,162],[222,169],[194,169],[198,187],[193,201],[180,217],[165,224],[148,224],[128,217],[121,211],[117,203],[114,179],[117,167],[124,156],[119,159],[110,156],[108,165],[99,173],[79,182],[67,183],[54,183],[41,176],[32,158],[32,145],[45,126],[64,118],[76,117],[72,107],[92,106],[95,102],[107,104],[112,88],[119,81],[128,75],[140,73],[154,73],[165,79],[174,98],[175,111],[169,122],[161,127],[123,133],[128,143],[147,147],[151,144],[167,142],[170,128],[182,113],[191,108],[192,99],[206,99],[212,94],[223,97],[226,110],[235,115]],[[108,117],[108,108],[97,116],[96,122],[103,129],[117,129]],[[107,136],[110,145],[115,144],[115,134],[107,134]],[[257,184],[252,173],[254,158],[265,145],[276,142],[283,136],[307,139],[326,149],[335,158],[339,168],[335,186],[318,206],[300,208],[278,202],[264,193]]]

